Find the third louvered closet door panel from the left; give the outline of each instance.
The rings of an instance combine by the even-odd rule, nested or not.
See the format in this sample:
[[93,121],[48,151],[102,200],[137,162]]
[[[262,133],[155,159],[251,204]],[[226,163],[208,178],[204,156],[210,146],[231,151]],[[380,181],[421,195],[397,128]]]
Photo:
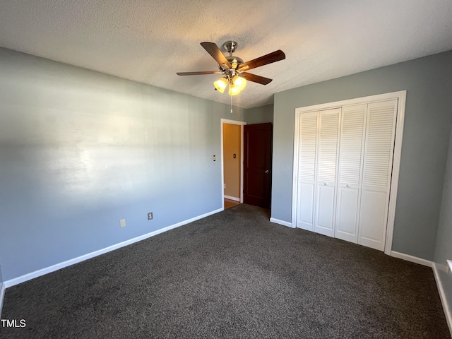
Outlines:
[[343,107],[340,124],[335,237],[355,244],[358,242],[366,110],[367,105]]

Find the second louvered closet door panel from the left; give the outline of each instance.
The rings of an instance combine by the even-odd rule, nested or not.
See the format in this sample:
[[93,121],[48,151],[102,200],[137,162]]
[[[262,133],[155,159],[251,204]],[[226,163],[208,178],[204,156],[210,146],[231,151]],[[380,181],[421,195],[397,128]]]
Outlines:
[[335,189],[340,109],[319,112],[319,141],[314,231],[334,236]]

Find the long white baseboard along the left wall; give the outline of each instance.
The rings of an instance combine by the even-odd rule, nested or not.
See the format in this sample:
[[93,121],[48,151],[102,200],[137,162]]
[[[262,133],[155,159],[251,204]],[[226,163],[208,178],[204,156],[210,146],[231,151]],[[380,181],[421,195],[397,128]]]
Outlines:
[[171,226],[168,226],[168,227],[164,227],[164,228],[160,228],[160,230],[156,230],[156,231],[153,231],[153,232],[150,232],[150,233],[147,233],[147,234],[143,234],[140,237],[129,239],[129,240],[126,240],[125,242],[120,242],[119,244],[114,244],[112,246],[105,247],[105,249],[99,249],[97,251],[94,251],[94,252],[91,252],[91,253],[88,253],[88,254],[84,254],[83,256],[78,256],[77,258],[73,258],[73,259],[70,259],[70,260],[63,261],[62,263],[57,263],[55,265],[52,265],[52,266],[49,266],[49,267],[46,267],[46,268],[42,268],[40,270],[35,270],[35,272],[27,273],[25,275],[21,275],[18,278],[13,278],[11,280],[6,280],[4,282],[4,288],[8,288],[8,287],[11,287],[11,286],[14,286],[14,285],[18,285],[20,283],[25,283],[25,281],[32,280],[34,278],[40,277],[41,275],[44,275],[44,274],[47,274],[47,273],[52,273],[52,272],[54,272],[56,270],[60,270],[61,268],[65,268],[65,267],[71,266],[71,265],[73,265],[75,263],[80,263],[81,261],[85,261],[85,260],[88,260],[90,258],[94,258],[95,256],[100,256],[101,254],[105,254],[107,252],[114,251],[115,249],[119,249],[121,247],[133,244],[135,242],[140,242],[141,240],[148,239],[148,238],[153,237],[153,236],[155,236],[157,234],[160,234],[160,233],[163,233],[163,232],[167,232],[169,230],[172,230],[172,229],[177,228],[177,227],[182,226],[182,225],[189,224],[190,222],[194,222],[194,221],[202,219],[202,218],[206,218],[209,215],[213,215],[215,213],[221,212],[222,210],[224,210],[224,208],[219,208],[218,210],[213,210],[213,211],[208,212],[206,214],[198,215],[197,217],[191,218],[189,220],[184,220],[182,222],[178,222],[177,224],[174,224],[174,225],[171,225]]

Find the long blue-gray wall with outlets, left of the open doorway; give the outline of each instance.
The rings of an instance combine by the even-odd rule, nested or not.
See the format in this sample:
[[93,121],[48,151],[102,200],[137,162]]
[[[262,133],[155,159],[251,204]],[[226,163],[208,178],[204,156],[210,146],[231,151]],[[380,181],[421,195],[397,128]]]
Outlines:
[[246,121],[244,109],[0,49],[4,280],[222,208],[221,118]]

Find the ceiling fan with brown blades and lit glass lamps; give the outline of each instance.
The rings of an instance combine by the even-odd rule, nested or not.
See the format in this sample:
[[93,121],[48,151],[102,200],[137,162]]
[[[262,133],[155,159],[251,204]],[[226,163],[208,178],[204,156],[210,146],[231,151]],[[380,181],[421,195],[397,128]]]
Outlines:
[[210,54],[215,61],[218,62],[219,71],[178,72],[177,75],[201,76],[206,74],[222,74],[222,78],[218,79],[218,81],[215,81],[213,84],[215,85],[215,90],[220,91],[220,93],[223,93],[227,88],[227,85],[229,85],[229,95],[239,94],[246,86],[246,81],[267,85],[272,79],[256,76],[247,71],[285,59],[284,52],[278,49],[278,51],[244,62],[239,57],[232,55],[235,49],[237,49],[237,42],[232,40],[223,44],[225,50],[229,52],[229,57],[225,57],[215,42],[201,42],[201,46],[206,49],[208,54]]

